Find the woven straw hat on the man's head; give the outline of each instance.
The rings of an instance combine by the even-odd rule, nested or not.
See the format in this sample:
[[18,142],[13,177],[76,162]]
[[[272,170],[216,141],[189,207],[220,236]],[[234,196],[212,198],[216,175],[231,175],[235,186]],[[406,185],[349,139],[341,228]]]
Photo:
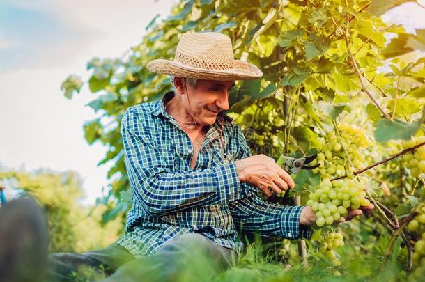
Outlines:
[[174,61],[157,59],[146,67],[157,74],[220,81],[263,76],[252,63],[235,60],[229,36],[215,32],[183,33]]

